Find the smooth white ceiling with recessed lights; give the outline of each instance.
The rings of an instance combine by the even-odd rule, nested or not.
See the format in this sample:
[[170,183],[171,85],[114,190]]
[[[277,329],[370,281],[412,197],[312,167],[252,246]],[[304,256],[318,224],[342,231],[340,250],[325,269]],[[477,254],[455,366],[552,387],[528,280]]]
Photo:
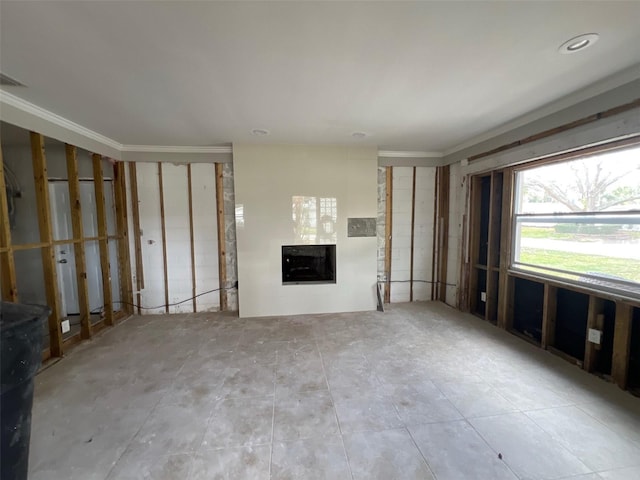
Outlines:
[[610,1],[2,0],[0,71],[125,145],[445,152],[639,64],[639,20]]

